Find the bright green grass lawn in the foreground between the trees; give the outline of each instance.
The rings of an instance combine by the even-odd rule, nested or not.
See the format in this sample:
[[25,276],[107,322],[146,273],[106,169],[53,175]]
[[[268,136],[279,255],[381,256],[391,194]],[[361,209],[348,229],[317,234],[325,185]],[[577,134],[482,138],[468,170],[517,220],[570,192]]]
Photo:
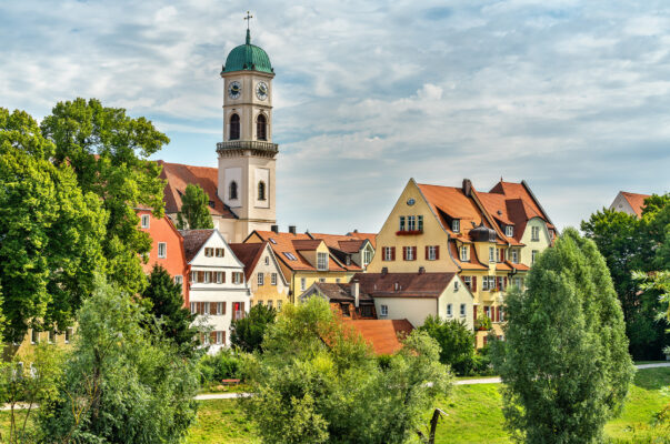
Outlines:
[[[614,443],[670,443],[670,431],[652,430],[653,414],[670,402],[670,367],[638,371],[634,385],[620,417],[606,426]],[[451,397],[438,402],[449,416],[440,422],[440,444],[511,443],[502,424],[499,384],[459,385]],[[198,423],[187,441],[191,443],[258,443],[253,425],[247,422],[233,400],[202,401]]]

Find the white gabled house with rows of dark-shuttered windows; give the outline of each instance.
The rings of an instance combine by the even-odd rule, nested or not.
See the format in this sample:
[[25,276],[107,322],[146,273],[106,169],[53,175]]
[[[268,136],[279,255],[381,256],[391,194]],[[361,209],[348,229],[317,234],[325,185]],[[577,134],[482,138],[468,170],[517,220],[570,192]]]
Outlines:
[[210,343],[209,352],[216,353],[229,345],[231,322],[249,312],[251,292],[244,264],[218,230],[184,230],[181,234],[190,268],[191,313],[203,316],[212,327],[206,342]]

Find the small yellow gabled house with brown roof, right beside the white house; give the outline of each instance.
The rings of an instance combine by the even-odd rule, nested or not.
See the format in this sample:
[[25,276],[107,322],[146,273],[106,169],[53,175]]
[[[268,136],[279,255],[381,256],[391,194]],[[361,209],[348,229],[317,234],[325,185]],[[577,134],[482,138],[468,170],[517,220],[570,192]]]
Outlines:
[[231,243],[230,249],[244,264],[244,276],[251,289],[251,304],[281,310],[289,302],[290,286],[269,242]]

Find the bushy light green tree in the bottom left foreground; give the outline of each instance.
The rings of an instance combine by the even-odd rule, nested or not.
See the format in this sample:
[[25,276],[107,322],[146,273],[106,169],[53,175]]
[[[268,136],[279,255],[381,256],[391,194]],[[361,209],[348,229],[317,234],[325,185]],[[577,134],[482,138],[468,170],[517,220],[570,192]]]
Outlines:
[[144,319],[128,294],[98,282],[79,311],[59,398],[40,405],[49,442],[183,442],[196,418],[197,363],[151,337]]

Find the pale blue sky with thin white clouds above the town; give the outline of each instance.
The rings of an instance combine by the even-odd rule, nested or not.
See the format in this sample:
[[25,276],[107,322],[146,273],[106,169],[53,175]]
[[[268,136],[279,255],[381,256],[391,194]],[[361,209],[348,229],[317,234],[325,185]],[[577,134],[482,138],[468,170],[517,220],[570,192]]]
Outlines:
[[282,231],[378,232],[419,183],[526,180],[559,228],[670,191],[670,3],[0,2],[0,107],[97,98],[217,167],[228,52],[272,62]]

